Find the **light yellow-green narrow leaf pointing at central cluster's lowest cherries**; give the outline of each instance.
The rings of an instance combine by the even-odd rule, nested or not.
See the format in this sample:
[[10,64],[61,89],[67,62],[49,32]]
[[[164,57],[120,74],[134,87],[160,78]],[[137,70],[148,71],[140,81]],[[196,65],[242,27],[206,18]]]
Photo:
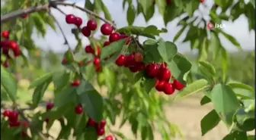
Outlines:
[[189,86],[185,87],[181,92],[175,96],[175,100],[179,98],[187,97],[188,95],[193,95],[195,93],[201,92],[206,89],[208,82],[205,79],[199,79],[195,82],[192,82]]

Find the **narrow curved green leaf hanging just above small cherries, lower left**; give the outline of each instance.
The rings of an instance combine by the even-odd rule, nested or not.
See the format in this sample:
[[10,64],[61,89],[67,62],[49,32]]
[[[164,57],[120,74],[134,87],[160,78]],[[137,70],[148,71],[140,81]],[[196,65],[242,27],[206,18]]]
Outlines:
[[37,105],[40,103],[44,93],[46,92],[46,89],[50,85],[50,82],[52,82],[52,79],[47,79],[42,84],[38,85],[36,89],[34,89],[34,93],[32,97],[33,107],[37,107]]

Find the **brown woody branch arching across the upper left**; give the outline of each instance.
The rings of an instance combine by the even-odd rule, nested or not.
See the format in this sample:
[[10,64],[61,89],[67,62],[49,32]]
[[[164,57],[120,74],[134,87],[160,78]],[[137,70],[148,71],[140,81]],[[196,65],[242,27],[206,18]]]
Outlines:
[[82,8],[82,7],[80,7],[78,5],[75,5],[75,4],[66,3],[64,1],[59,1],[59,2],[58,1],[50,1],[49,3],[44,4],[44,5],[38,5],[38,6],[35,6],[35,7],[31,7],[31,8],[27,8],[27,9],[21,9],[21,10],[18,10],[18,11],[11,12],[9,14],[5,14],[1,17],[1,24],[6,23],[9,20],[14,20],[18,17],[21,17],[21,15],[24,15],[24,14],[31,14],[31,13],[39,12],[39,11],[49,11],[50,8],[56,8],[58,10],[57,5],[71,6],[71,7],[77,8],[81,11],[84,11],[87,14],[93,15],[95,18],[98,18],[98,19],[104,21],[105,23],[111,24],[111,26],[113,26],[114,29],[117,29],[117,26],[113,22],[98,16],[98,14],[95,14],[93,11],[90,11],[87,8]]

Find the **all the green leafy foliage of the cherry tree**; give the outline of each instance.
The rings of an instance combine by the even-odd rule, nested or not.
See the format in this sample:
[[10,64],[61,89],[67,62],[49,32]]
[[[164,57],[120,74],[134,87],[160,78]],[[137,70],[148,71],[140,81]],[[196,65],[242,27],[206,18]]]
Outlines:
[[[19,0],[17,2],[15,0],[14,2],[13,0],[11,2],[3,1],[3,3],[1,11],[4,14],[8,14],[18,9],[43,5],[48,1]],[[57,68],[44,76],[34,79],[34,82],[29,87],[29,89],[33,89],[34,93],[30,101],[27,102],[29,110],[26,114],[22,112],[21,105],[16,101],[18,99],[18,86],[17,79],[12,74],[16,72],[14,66],[21,59],[25,66],[30,65],[29,62],[31,60],[27,60],[27,58],[37,51],[34,40],[31,39],[33,30],[36,30],[38,35],[44,37],[47,31],[46,27],[51,26],[53,30],[56,30],[57,24],[55,23],[58,21],[49,12],[40,11],[29,14],[25,19],[18,18],[10,20],[8,23],[2,23],[2,29],[11,30],[10,39],[18,42],[22,50],[27,50],[28,56],[26,57],[24,51],[22,51],[21,58],[11,59],[12,67],[8,69],[1,67],[1,95],[6,97],[6,102],[11,99],[14,110],[18,110],[18,114],[21,115],[20,119],[29,123],[28,128],[25,126],[18,127],[18,129],[10,128],[10,126],[15,126],[10,123],[10,117],[8,122],[6,117],[2,116],[2,138],[20,138],[19,135],[21,134],[27,135],[27,129],[30,130],[30,138],[32,139],[50,137],[47,131],[43,133],[43,129],[49,130],[54,121],[59,121],[62,129],[57,139],[71,136],[81,140],[86,138],[93,140],[98,138],[99,132],[96,135],[95,129],[90,126],[91,119],[99,124],[102,123],[102,120],[107,120],[107,133],[112,133],[118,139],[129,139],[122,133],[111,130],[109,123],[115,125],[117,117],[122,118],[120,127],[126,122],[130,123],[131,131],[136,138],[154,139],[153,132],[155,131],[161,132],[162,138],[166,140],[177,136],[176,133],[179,132],[177,126],[168,122],[164,114],[163,107],[170,100],[166,99],[166,95],[155,93],[156,91],[153,89],[156,79],[147,76],[146,69],[141,70],[139,73],[131,73],[132,70],[114,65],[120,54],[132,54],[135,51],[142,54],[144,57],[142,63],[147,66],[165,62],[168,65],[168,70],[171,70],[171,82],[174,83],[175,80],[178,80],[182,86],[186,86],[184,89],[179,89],[181,92],[176,90],[175,95],[171,96],[173,101],[203,92],[204,97],[200,103],[202,105],[213,104],[214,109],[201,120],[202,135],[205,135],[222,120],[227,129],[230,130],[223,140],[251,138],[252,136],[247,135],[247,132],[254,129],[252,124],[255,121],[255,92],[251,86],[227,80],[229,55],[219,41],[219,35],[225,36],[238,49],[241,49],[241,46],[235,38],[221,29],[213,29],[210,30],[210,34],[208,33],[207,21],[194,15],[194,12],[198,11],[200,7],[207,8],[207,6],[196,0],[174,0],[171,3],[162,0],[156,0],[155,2],[153,0],[137,0],[135,2],[123,0],[123,8],[125,8],[126,3],[128,4],[127,21],[129,26],[115,31],[126,34],[127,37],[103,47],[102,40],[105,41],[105,39],[93,39],[94,33],[92,33],[89,40],[91,47],[97,52],[85,54],[84,51],[81,51],[82,39],[78,36],[80,27],[72,29],[78,44],[75,50],[69,48],[64,54],[62,65],[65,69]],[[155,13],[154,3],[163,17],[165,25],[176,17],[184,17],[178,22],[178,26],[182,26],[182,28],[174,37],[173,42],[164,41],[160,37],[161,33],[167,32],[166,29],[158,29],[152,25],[146,27],[133,26],[134,19],[139,14],[142,14],[146,21],[152,18]],[[215,0],[215,3],[210,8],[210,22],[235,21],[240,15],[245,14],[248,17],[249,30],[254,30],[254,13],[250,12],[254,11],[254,3],[252,1],[245,4],[244,1]],[[54,2],[50,2],[51,8],[56,8],[55,6],[60,5],[61,2],[56,2],[56,5],[53,4]],[[218,8],[216,5],[218,5]],[[112,20],[110,12],[101,0],[94,0],[93,3],[86,0],[85,8],[93,11],[93,13],[85,12],[87,12],[88,17],[96,18],[98,25],[100,20],[104,22]],[[58,10],[58,8],[56,9]],[[220,14],[217,9],[221,10]],[[230,14],[227,14],[228,9],[231,9]],[[104,13],[104,18],[98,17],[97,14],[101,12]],[[113,23],[112,26],[116,27]],[[198,49],[200,52],[198,59],[199,71],[197,73],[202,76],[201,79],[193,80],[190,73],[192,64],[184,55],[178,53],[177,46],[174,44],[186,29],[188,29],[188,32],[183,42],[190,42],[190,48]],[[83,34],[85,35],[85,33]],[[66,40],[66,36],[64,34],[63,36]],[[146,41],[139,42],[139,36],[146,37]],[[128,41],[129,43],[127,43]],[[66,41],[63,45],[69,44]],[[101,53],[98,49],[101,50]],[[219,57],[222,59],[221,77],[219,77],[218,70],[213,64],[207,61],[210,51],[213,51],[213,60],[216,60],[219,54],[222,56]],[[40,54],[37,57],[45,59]],[[99,57],[101,69],[94,66],[95,61],[94,64],[91,63],[91,59],[94,59],[94,57]],[[2,59],[6,60],[8,57]],[[56,60],[58,58],[52,59]],[[43,64],[38,64],[37,66],[40,67],[41,65]],[[45,111],[40,106],[46,102],[43,101],[43,97],[47,89],[50,89],[51,84],[53,84],[54,107],[51,110],[47,108]],[[104,87],[107,87],[105,92],[101,90]],[[75,114],[78,107],[82,107],[82,114]],[[36,109],[39,111],[34,112]],[[46,122],[46,127],[43,126],[44,122]],[[74,130],[73,133],[72,130]]]

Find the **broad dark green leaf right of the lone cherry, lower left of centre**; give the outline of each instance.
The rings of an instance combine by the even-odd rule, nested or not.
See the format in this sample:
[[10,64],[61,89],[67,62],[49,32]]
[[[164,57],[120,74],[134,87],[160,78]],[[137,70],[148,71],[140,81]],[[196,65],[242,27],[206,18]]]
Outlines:
[[84,92],[79,95],[83,109],[92,120],[100,122],[103,117],[103,98],[96,90]]

